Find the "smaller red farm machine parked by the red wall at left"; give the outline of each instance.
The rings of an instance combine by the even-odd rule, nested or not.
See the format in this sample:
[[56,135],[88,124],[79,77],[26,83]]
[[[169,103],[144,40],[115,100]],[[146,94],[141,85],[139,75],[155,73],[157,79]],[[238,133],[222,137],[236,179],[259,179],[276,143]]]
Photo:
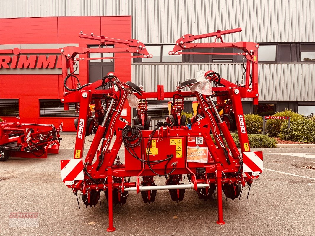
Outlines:
[[0,161],[13,157],[47,158],[58,154],[62,123],[54,125],[0,122]]

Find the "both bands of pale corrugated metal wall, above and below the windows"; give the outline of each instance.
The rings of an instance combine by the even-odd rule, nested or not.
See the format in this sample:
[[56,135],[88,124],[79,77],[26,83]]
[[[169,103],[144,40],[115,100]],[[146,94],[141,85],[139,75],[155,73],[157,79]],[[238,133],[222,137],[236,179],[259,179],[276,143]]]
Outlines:
[[[131,15],[132,37],[144,43],[174,43],[186,33],[203,34],[242,27],[224,36],[226,42],[315,42],[314,0],[1,0],[0,17]],[[87,32],[89,33],[89,32]],[[200,40],[200,42],[203,42]],[[262,101],[315,101],[315,64],[259,65]],[[240,78],[239,64],[132,65],[132,80],[146,91],[164,84],[172,91],[177,80],[196,71],[214,69],[230,81]]]

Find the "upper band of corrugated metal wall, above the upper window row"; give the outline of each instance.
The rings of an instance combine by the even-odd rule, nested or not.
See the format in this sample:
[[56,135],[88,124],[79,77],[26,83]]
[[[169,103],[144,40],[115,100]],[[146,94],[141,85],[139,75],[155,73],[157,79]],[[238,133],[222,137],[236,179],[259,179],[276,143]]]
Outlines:
[[314,0],[1,0],[0,18],[131,15],[144,43],[237,27],[226,42],[315,42],[314,9]]

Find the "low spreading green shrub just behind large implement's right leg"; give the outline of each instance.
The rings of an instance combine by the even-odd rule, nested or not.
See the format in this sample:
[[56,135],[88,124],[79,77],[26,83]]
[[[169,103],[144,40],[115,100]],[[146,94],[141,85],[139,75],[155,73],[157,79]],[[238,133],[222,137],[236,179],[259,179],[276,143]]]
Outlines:
[[[238,148],[241,148],[239,143],[238,134],[231,133],[232,138]],[[213,135],[211,135],[212,140],[214,140]],[[276,144],[278,143],[275,138],[270,138],[268,135],[263,134],[249,134],[249,147],[250,148],[275,148]],[[224,140],[225,141],[225,140]],[[225,144],[227,145],[226,141]]]

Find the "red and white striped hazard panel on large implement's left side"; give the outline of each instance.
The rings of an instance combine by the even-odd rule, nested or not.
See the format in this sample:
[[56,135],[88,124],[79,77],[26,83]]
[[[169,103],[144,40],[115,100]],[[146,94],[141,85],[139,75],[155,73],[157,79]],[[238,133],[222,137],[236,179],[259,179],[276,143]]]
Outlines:
[[61,179],[66,185],[74,184],[74,181],[83,180],[83,160],[61,160]]

